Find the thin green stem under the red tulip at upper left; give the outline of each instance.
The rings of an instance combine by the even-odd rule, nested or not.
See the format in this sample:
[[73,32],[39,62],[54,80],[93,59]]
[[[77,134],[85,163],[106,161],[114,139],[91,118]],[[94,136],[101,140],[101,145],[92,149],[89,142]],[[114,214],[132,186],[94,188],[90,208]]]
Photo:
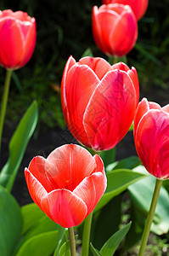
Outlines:
[[4,118],[5,118],[7,102],[8,102],[8,90],[9,90],[9,86],[10,86],[11,74],[12,74],[12,70],[7,69],[5,84],[4,84],[4,90],[3,90],[3,100],[2,100],[2,105],[1,105],[1,113],[0,113],[0,152],[1,152],[3,124],[4,124]]

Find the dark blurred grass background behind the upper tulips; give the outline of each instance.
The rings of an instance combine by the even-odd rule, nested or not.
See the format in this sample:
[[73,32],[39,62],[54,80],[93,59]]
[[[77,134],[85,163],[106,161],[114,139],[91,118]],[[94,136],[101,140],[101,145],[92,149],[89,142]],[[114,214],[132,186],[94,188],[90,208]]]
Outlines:
[[[7,119],[19,120],[32,100],[40,109],[40,126],[64,127],[59,86],[70,55],[78,60],[87,48],[94,56],[107,57],[94,44],[91,13],[100,1],[2,0],[0,9],[20,9],[37,20],[37,46],[29,63],[13,75]],[[169,87],[169,1],[149,0],[149,8],[138,22],[138,41],[127,55],[136,67],[141,95],[164,105]],[[0,68],[0,83],[4,70]],[[2,95],[3,86],[0,86]]]

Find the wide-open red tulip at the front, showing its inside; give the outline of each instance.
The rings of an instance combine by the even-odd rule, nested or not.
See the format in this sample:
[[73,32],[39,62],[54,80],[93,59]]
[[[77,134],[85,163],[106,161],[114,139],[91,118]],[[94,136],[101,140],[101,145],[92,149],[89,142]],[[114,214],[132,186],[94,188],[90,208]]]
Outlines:
[[32,200],[64,228],[82,223],[107,183],[99,155],[73,144],[56,148],[47,160],[35,157],[25,168],[25,179]]

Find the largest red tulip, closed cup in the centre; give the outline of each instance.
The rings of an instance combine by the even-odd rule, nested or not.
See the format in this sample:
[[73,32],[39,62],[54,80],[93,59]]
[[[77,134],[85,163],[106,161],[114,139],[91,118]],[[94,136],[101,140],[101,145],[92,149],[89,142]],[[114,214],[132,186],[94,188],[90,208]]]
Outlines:
[[94,150],[114,148],[132,124],[138,105],[138,75],[124,63],[72,56],[61,84],[65,122],[76,140]]

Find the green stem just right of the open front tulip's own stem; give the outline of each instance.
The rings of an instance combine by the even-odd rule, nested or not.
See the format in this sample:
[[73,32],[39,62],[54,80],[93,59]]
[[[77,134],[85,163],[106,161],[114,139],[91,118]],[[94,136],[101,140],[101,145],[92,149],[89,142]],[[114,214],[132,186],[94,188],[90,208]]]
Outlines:
[[85,219],[82,233],[82,256],[88,256],[92,219],[93,212],[91,212]]

